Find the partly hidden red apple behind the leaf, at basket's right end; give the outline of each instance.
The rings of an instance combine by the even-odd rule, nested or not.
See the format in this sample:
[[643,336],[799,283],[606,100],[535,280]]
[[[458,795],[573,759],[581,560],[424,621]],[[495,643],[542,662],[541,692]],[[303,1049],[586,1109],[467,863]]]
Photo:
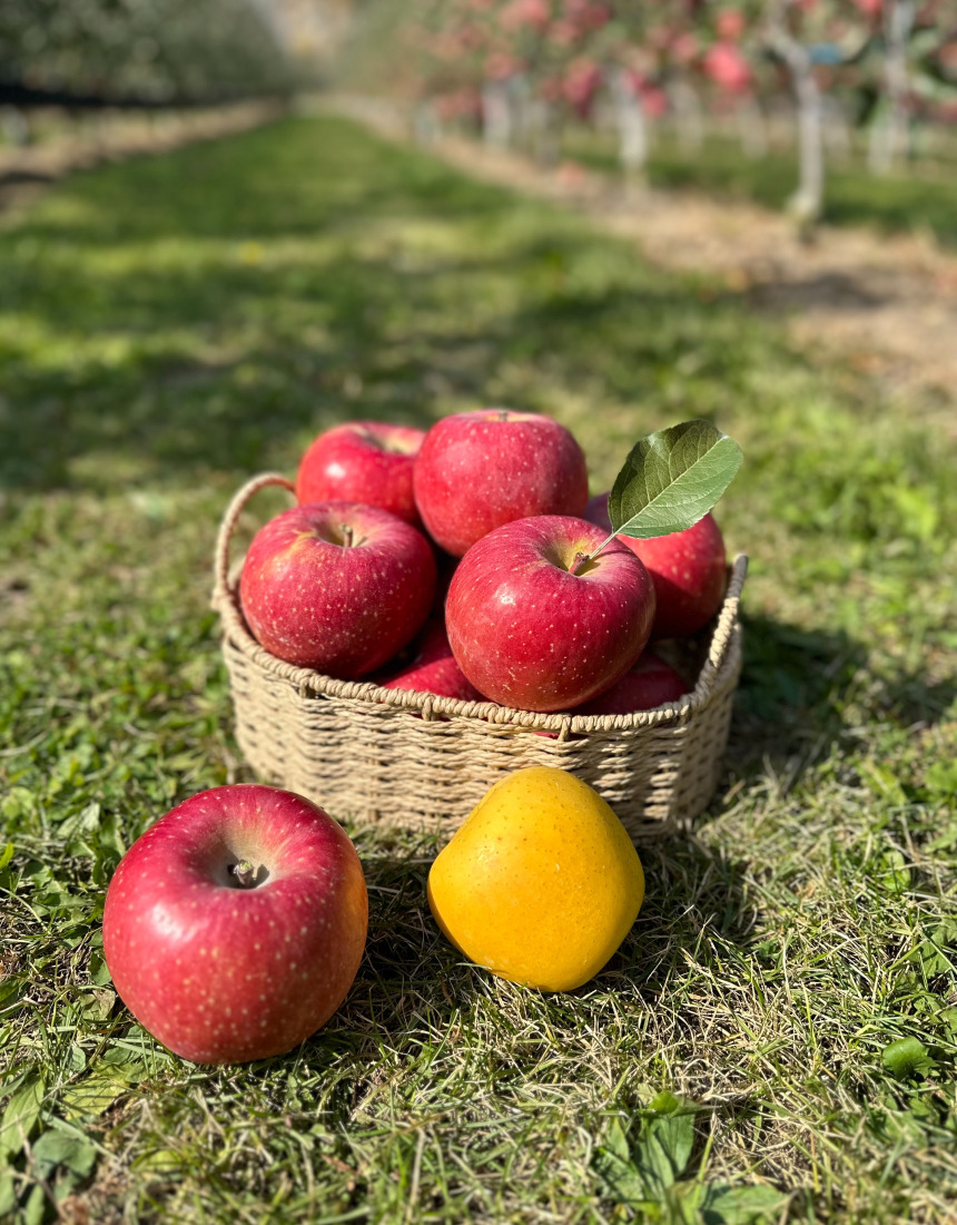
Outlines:
[[[607,494],[589,501],[585,518],[612,530]],[[707,625],[721,608],[728,582],[724,540],[712,514],[685,532],[654,540],[618,539],[644,561],[655,584],[652,638],[688,638]]]

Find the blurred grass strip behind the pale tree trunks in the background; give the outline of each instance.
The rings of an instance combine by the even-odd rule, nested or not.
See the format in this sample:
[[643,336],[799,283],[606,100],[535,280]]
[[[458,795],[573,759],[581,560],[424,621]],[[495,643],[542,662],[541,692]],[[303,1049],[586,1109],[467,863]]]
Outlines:
[[[567,151],[596,169],[618,165],[608,137],[569,134]],[[797,149],[775,149],[748,158],[735,141],[722,137],[709,138],[694,153],[661,140],[649,158],[647,176],[655,186],[751,200],[781,211],[797,189]],[[933,234],[945,246],[957,245],[957,180],[951,167],[933,173],[925,164],[875,175],[860,158],[829,157],[827,163],[825,221],[871,225],[886,233]]]

